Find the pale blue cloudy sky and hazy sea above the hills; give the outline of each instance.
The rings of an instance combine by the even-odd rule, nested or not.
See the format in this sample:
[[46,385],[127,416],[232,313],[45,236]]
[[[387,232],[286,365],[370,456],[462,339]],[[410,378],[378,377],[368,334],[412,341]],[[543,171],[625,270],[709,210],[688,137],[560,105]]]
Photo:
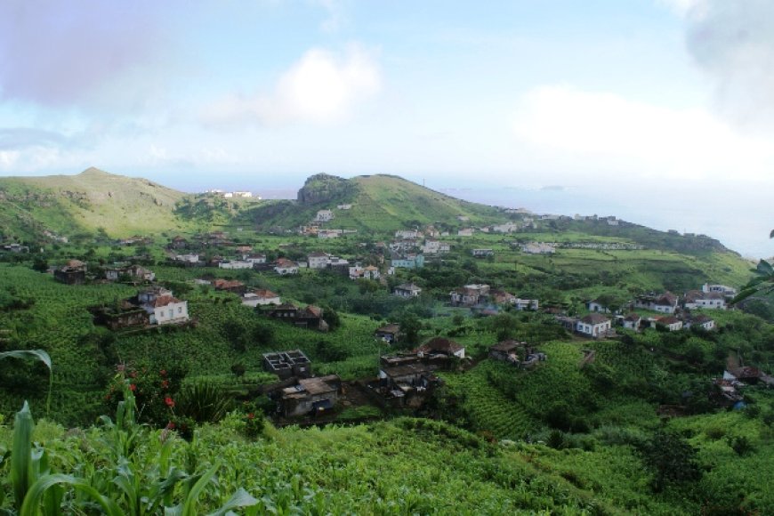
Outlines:
[[770,0],[0,3],[0,175],[561,186],[708,232],[774,227],[772,136]]

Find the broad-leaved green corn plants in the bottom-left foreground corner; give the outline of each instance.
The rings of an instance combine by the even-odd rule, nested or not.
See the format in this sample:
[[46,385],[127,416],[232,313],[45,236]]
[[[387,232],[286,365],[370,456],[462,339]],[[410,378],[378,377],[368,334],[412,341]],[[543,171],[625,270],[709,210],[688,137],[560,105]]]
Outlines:
[[[133,397],[127,391],[127,399],[117,409],[115,423],[109,418],[103,420],[109,456],[98,458],[106,464],[85,467],[82,471],[86,472],[85,477],[52,472],[46,450],[33,445],[35,423],[28,403],[24,403],[13,425],[10,479],[15,512],[8,513],[36,516],[85,512],[95,504],[109,516],[200,513],[199,499],[209,485],[217,486],[215,473],[221,463],[216,462],[200,473],[172,465],[173,447],[181,441],[167,435],[160,447],[149,447],[153,439],[134,420]],[[141,453],[141,448],[145,453]],[[6,453],[3,462],[7,458]],[[225,515],[257,503],[253,496],[238,488],[213,514]]]

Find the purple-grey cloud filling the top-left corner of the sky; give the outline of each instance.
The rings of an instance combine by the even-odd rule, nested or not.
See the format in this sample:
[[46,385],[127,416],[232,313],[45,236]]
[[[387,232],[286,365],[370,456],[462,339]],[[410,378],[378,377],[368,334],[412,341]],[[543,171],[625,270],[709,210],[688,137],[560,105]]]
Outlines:
[[[155,3],[8,0],[0,3],[0,100],[68,106],[140,90],[164,52]],[[122,79],[131,77],[132,84]],[[144,84],[157,84],[145,77]],[[118,86],[118,87],[116,87]]]

